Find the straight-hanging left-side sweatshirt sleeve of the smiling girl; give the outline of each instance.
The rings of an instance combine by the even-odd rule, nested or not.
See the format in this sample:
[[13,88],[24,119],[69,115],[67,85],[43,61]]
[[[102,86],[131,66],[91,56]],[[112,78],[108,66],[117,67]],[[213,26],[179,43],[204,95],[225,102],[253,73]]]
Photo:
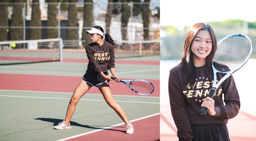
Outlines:
[[169,73],[168,90],[171,114],[177,127],[177,136],[179,140],[192,140],[193,133],[185,108],[185,96],[182,93],[178,75],[171,70]]

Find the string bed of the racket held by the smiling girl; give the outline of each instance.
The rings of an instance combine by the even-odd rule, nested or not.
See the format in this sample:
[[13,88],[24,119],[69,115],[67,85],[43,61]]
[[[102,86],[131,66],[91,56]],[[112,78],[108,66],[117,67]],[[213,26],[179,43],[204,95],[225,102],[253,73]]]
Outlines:
[[213,58],[214,67],[221,72],[239,68],[250,53],[251,43],[243,36],[226,38],[217,46]]

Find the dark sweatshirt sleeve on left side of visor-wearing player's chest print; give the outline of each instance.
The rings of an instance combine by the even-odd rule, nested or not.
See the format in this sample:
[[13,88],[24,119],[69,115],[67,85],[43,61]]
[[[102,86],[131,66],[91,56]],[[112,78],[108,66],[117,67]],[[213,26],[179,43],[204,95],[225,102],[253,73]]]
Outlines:
[[89,66],[91,67],[95,72],[100,73],[102,72],[100,66],[98,65],[98,62],[95,60],[93,53],[88,45],[85,46],[86,54],[89,60]]

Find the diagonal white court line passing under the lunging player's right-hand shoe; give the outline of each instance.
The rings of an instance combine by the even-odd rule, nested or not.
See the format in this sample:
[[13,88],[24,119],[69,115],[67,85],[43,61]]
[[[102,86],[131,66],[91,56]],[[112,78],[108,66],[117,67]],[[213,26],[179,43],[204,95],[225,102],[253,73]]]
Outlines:
[[[130,122],[137,121],[137,120],[141,120],[141,119],[145,119],[145,118],[148,118],[148,117],[151,117],[151,116],[155,116],[155,115],[158,115],[158,114],[160,114],[160,112],[154,113],[154,114],[151,114],[151,115],[147,115],[147,116],[144,116],[144,117],[140,117],[140,118],[137,118],[137,119],[133,119],[133,120],[130,120]],[[89,134],[89,133],[97,132],[97,131],[100,131],[100,130],[108,129],[108,128],[111,128],[111,127],[113,127],[113,126],[119,126],[119,125],[122,125],[122,124],[124,124],[124,122],[123,122],[123,123],[119,123],[119,124],[115,124],[115,125],[111,125],[111,126],[108,126],[108,127],[104,127],[104,128],[101,128],[101,129],[96,129],[96,130],[93,130],[93,131],[84,132],[84,133],[77,134],[77,135],[74,135],[74,136],[62,138],[62,139],[59,139],[59,140],[56,140],[56,141],[67,140],[67,139],[75,138],[75,137],[82,136],[82,135],[85,135],[85,134]]]

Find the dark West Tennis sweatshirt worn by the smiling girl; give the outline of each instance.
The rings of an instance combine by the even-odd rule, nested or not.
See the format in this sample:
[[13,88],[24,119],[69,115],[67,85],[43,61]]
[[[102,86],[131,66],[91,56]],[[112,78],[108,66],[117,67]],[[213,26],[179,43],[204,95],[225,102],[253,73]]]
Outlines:
[[[196,79],[193,86],[188,85],[188,79],[181,64],[170,69],[169,73],[169,99],[171,114],[177,127],[179,140],[193,138],[190,124],[227,123],[228,119],[238,114],[240,107],[239,95],[232,76],[225,79],[217,88],[213,96],[216,115],[207,112],[199,115],[202,99],[206,97],[212,87],[213,73],[206,65],[196,67]],[[217,80],[223,74],[217,73]],[[224,97],[223,103],[222,97]]]

